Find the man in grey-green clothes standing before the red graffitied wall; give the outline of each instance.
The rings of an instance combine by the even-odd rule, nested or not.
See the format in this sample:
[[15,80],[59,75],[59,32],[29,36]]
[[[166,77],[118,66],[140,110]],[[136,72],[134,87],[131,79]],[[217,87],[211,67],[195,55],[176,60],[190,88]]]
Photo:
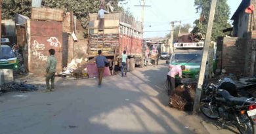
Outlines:
[[[47,89],[45,92],[53,92],[54,91],[54,78],[55,78],[55,73],[56,73],[56,65],[57,65],[57,59],[55,58],[55,50],[50,49],[49,50],[50,56],[47,60],[47,68],[46,68],[46,86]],[[49,81],[51,80],[51,88]]]

